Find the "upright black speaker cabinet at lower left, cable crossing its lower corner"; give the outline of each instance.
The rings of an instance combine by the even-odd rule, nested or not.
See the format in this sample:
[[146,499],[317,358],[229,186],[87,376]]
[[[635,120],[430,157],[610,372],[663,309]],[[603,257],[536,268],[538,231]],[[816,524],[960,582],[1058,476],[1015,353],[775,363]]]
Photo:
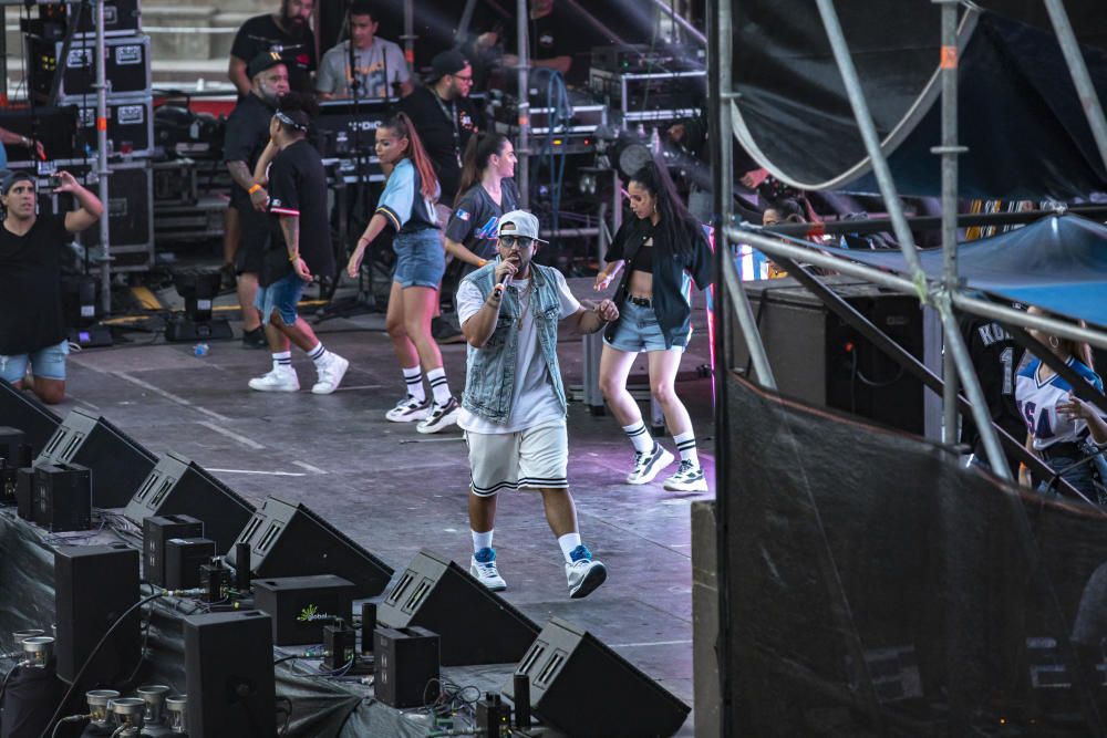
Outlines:
[[[138,602],[138,551],[117,545],[62,545],[54,550],[58,676],[73,682],[93,647]],[[138,665],[136,609],[112,633],[80,687],[117,684]]]

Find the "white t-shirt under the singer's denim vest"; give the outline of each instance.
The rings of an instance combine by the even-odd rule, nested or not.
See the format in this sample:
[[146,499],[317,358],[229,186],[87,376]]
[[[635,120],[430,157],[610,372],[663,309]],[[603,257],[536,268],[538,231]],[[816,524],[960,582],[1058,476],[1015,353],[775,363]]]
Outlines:
[[[554,272],[558,295],[561,298],[561,315],[565,320],[580,310],[577,298],[569,292],[561,272]],[[469,413],[464,407],[457,417],[457,425],[469,433],[516,433],[534,428],[542,423],[565,417],[561,404],[554,393],[554,381],[550,378],[542,349],[538,345],[538,330],[529,302],[534,298],[529,290],[529,279],[515,279],[507,288],[518,290],[523,304],[523,326],[519,329],[519,351],[515,356],[515,395],[511,398],[511,415],[507,423],[492,423]],[[484,305],[485,298],[480,289],[472,281],[463,281],[457,289],[457,318],[462,324],[473,318]]]

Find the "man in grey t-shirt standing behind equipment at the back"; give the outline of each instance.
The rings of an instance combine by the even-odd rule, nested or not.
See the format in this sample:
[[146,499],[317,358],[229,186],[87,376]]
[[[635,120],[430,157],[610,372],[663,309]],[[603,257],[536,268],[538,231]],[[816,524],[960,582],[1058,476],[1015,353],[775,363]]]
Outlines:
[[[376,35],[379,21],[369,0],[354,0],[348,13],[350,39],[330,49],[319,64],[315,92],[320,97],[351,97],[351,81],[358,83],[359,97],[407,96],[412,74],[403,50]],[[350,43],[353,42],[353,50]],[[354,69],[350,69],[353,58]]]

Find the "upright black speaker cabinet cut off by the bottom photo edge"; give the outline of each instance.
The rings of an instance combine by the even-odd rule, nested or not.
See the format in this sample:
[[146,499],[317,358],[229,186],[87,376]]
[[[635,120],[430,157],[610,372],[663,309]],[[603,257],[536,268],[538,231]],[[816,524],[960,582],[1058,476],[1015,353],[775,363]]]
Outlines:
[[257,610],[184,619],[192,738],[277,735],[272,625]]

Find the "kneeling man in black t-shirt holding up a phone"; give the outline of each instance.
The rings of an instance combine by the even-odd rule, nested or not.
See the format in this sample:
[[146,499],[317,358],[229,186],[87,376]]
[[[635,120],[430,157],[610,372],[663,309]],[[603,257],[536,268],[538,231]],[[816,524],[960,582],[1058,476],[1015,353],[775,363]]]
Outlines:
[[34,179],[8,173],[0,183],[4,208],[0,228],[0,376],[23,386],[28,364],[32,388],[42,402],[65,396],[69,341],[62,319],[61,253],[71,239],[100,218],[104,208],[73,175],[55,175],[55,193],[71,193],[81,207],[64,215],[39,216]]

